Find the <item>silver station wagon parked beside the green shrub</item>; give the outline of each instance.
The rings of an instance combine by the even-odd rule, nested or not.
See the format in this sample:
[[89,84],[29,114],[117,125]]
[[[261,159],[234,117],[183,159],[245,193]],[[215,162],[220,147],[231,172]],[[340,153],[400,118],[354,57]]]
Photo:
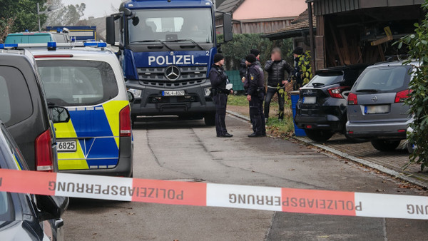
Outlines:
[[412,116],[404,101],[412,78],[411,63],[402,61],[377,63],[360,75],[348,96],[346,124],[351,138],[368,139],[380,151],[395,150]]

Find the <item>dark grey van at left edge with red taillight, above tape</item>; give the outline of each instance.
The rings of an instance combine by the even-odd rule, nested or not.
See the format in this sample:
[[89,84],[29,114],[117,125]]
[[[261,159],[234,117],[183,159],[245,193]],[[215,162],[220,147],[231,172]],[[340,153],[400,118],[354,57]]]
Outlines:
[[48,108],[31,53],[0,50],[0,120],[19,145],[30,170],[58,170],[52,128],[58,115],[63,121],[69,118],[65,108]]

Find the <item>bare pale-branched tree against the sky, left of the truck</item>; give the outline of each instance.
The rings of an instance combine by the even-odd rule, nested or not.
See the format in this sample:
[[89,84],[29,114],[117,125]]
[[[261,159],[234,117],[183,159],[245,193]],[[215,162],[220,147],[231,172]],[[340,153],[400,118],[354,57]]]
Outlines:
[[58,9],[49,12],[46,26],[74,26],[84,14],[86,4],[65,6],[61,0],[50,1],[51,5],[58,6]]

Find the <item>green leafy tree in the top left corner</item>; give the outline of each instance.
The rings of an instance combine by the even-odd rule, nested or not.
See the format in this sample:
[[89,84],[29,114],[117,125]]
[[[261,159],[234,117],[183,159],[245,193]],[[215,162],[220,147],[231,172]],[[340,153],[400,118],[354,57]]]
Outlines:
[[[37,21],[37,3],[44,5],[46,0],[2,0],[0,4],[0,37],[9,33],[36,31],[39,29]],[[44,8],[41,8],[43,11]],[[41,15],[43,23],[46,17]],[[0,39],[1,41],[2,39]]]

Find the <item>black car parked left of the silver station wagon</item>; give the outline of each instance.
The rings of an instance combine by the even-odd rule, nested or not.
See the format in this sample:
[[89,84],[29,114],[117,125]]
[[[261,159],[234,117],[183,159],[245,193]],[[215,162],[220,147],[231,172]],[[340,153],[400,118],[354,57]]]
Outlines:
[[306,86],[300,88],[295,123],[308,138],[328,140],[335,133],[346,133],[347,94],[367,65],[340,66],[316,72]]

